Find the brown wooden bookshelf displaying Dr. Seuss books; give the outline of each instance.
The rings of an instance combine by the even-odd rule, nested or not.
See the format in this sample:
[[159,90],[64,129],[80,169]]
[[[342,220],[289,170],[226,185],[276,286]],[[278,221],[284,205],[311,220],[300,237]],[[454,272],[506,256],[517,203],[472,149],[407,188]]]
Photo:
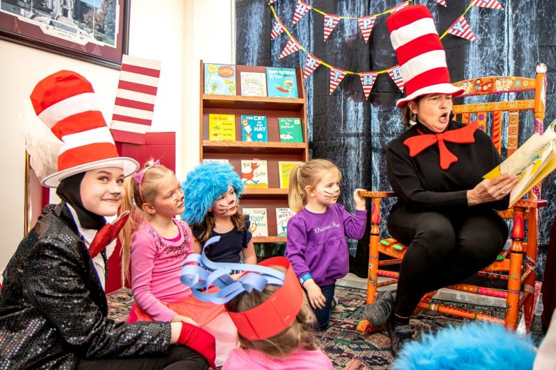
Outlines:
[[[240,199],[240,209],[266,208],[268,237],[253,237],[255,243],[284,243],[286,237],[277,236],[276,208],[288,207],[288,190],[279,184],[278,161],[309,160],[306,123],[306,94],[302,69],[296,69],[297,99],[275,98],[268,96],[241,96],[241,72],[266,72],[266,67],[236,65],[236,94],[204,94],[204,62],[200,66],[200,137],[199,157],[206,159],[226,159],[240,172],[241,160],[266,160],[268,169],[268,188],[246,187]],[[208,140],[208,115],[227,114],[236,117],[236,140]],[[241,116],[263,115],[267,117],[268,142],[243,142],[241,140]],[[300,118],[303,142],[281,142],[278,118]]]

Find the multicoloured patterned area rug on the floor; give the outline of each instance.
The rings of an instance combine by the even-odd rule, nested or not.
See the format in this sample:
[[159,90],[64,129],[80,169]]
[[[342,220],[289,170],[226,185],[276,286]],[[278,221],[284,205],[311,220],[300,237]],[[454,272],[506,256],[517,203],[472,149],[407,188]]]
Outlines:
[[[390,339],[386,333],[360,333],[356,330],[357,323],[363,317],[366,291],[347,287],[336,287],[338,305],[334,308],[330,328],[317,333],[318,346],[334,364],[334,369],[366,370],[391,369],[393,358],[390,353]],[[117,321],[125,321],[133,303],[130,289],[120,289],[108,294],[109,317]],[[477,308],[483,313],[502,318],[502,308],[477,306],[457,303],[457,307],[466,309]],[[459,317],[444,316],[436,312],[421,311],[411,318],[411,325],[416,331],[415,339],[421,332],[436,332],[445,326],[461,325],[468,320]],[[531,335],[534,342],[542,338],[541,321],[535,317]]]

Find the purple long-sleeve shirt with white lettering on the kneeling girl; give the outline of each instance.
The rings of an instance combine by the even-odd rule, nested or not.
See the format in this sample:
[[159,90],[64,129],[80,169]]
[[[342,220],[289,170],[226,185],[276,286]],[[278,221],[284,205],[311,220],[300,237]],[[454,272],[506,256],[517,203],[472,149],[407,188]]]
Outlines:
[[311,274],[319,286],[343,278],[350,269],[345,237],[361,239],[365,233],[367,211],[350,215],[343,205],[329,205],[324,213],[305,208],[288,221],[286,257],[297,278]]

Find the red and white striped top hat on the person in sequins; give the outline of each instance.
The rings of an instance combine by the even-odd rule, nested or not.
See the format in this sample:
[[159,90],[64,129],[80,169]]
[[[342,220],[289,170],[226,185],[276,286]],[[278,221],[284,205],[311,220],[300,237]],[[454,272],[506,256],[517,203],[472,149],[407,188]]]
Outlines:
[[129,176],[139,168],[133,158],[120,157],[106,121],[87,79],[72,71],[60,71],[40,81],[31,93],[38,117],[63,141],[58,172],[41,184],[57,187],[60,180],[90,169],[118,167]]

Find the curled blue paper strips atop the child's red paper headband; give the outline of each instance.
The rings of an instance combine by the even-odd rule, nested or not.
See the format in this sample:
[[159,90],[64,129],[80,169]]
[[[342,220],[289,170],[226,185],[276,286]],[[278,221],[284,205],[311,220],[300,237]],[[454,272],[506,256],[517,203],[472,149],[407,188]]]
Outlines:
[[[262,292],[264,287],[282,285],[286,275],[270,267],[257,264],[213,262],[206,257],[206,249],[211,244],[220,240],[219,236],[211,237],[204,244],[202,253],[192,254],[186,258],[181,269],[179,280],[183,285],[191,288],[193,296],[199,301],[224,304],[243,292],[252,292],[253,289]],[[195,264],[193,264],[195,262]],[[245,274],[238,280],[231,278],[231,271],[246,271],[257,274]],[[204,292],[209,287],[220,288],[217,292]]]

